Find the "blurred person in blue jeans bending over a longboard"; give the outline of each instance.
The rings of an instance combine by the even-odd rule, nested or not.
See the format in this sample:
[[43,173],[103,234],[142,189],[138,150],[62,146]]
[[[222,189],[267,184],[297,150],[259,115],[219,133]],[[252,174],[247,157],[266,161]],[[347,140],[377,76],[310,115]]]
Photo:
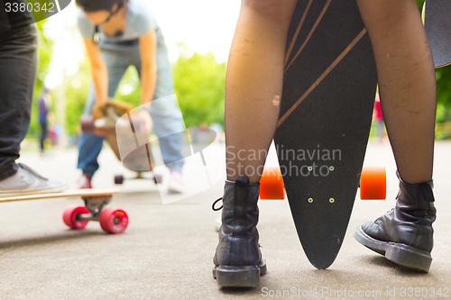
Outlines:
[[[77,5],[83,10],[78,15],[78,28],[93,77],[84,114],[92,114],[95,104],[114,97],[126,69],[134,66],[141,78],[141,105],[151,114],[162,159],[170,168],[169,191],[182,192],[183,141],[180,134],[174,133],[185,131],[185,126],[174,94],[168,50],[147,2],[77,0]],[[160,100],[152,101],[157,99]],[[85,132],[80,137],[78,168],[83,171],[80,187],[91,186],[103,140],[94,133]]]

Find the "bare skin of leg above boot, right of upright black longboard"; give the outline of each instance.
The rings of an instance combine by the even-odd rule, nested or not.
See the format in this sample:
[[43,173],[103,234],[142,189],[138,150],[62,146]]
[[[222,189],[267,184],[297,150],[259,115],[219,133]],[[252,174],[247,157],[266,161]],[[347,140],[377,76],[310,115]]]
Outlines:
[[400,177],[432,177],[436,77],[415,0],[357,0],[373,44],[382,112]]

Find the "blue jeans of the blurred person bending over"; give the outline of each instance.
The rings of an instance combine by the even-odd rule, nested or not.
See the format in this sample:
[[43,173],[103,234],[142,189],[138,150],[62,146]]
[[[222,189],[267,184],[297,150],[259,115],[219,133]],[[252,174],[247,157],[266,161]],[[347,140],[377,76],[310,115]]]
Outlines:
[[[139,45],[123,47],[104,44],[100,45],[100,48],[108,69],[108,96],[114,97],[117,86],[129,66],[134,66],[141,77]],[[171,170],[181,171],[184,164],[181,154],[183,140],[180,134],[174,133],[185,131],[185,124],[183,123],[179,105],[177,105],[177,97],[174,94],[172,71],[167,50],[164,45],[159,43],[157,50],[157,83],[153,99],[161,99],[163,97],[164,101],[151,102],[150,111],[153,132],[160,139],[160,149],[164,164]],[[96,93],[94,83],[91,83],[84,114],[91,114],[92,107],[95,104]],[[80,136],[78,168],[82,169],[83,173],[86,173],[89,177],[93,177],[98,169],[97,157],[100,150],[102,150],[103,141],[103,137],[94,133],[82,133]]]

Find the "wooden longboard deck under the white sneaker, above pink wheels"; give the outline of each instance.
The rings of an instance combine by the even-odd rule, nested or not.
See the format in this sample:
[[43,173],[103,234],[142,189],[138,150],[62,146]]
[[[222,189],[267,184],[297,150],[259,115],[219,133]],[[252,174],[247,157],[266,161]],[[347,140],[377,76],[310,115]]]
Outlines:
[[118,194],[120,191],[118,189],[72,189],[65,190],[60,193],[44,193],[44,194],[33,194],[33,195],[15,195],[2,197],[0,195],[0,203],[3,202],[14,202],[14,201],[26,201],[26,200],[39,200],[39,199],[51,199],[51,198],[65,198],[65,197],[103,197]]

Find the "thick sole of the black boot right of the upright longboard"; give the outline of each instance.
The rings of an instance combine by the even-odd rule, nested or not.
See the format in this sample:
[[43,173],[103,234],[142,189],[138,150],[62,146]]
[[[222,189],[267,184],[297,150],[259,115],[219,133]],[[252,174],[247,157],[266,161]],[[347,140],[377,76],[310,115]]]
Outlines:
[[366,234],[361,227],[355,229],[354,238],[366,248],[382,254],[386,259],[400,266],[413,268],[425,273],[429,271],[432,257],[426,251],[397,242],[375,240]]

